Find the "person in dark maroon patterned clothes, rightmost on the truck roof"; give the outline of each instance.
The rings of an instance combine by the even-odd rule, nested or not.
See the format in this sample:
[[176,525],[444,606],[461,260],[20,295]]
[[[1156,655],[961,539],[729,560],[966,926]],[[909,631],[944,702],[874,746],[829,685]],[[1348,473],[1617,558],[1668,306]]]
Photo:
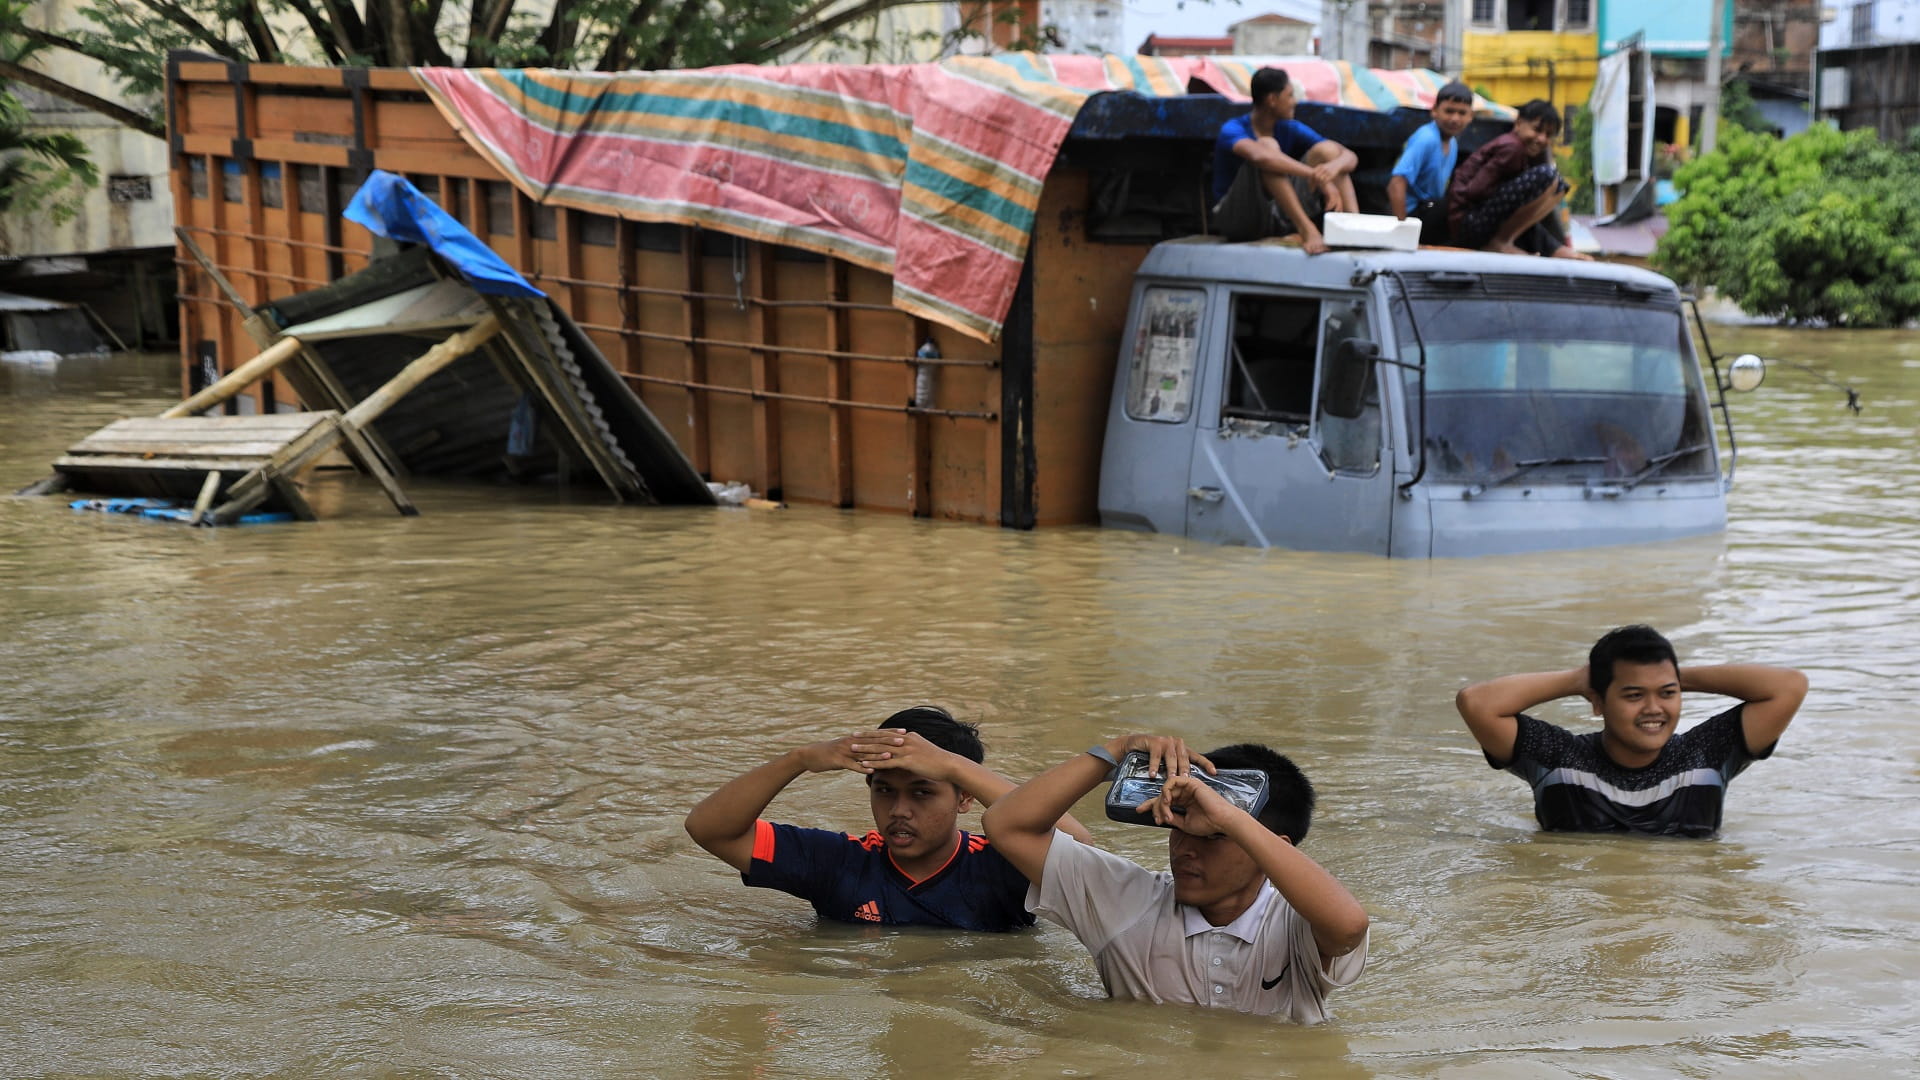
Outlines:
[[1488,140],[1453,169],[1446,211],[1455,244],[1509,256],[1588,258],[1553,229],[1540,227],[1567,192],[1567,181],[1553,167],[1555,135],[1559,110],[1534,98],[1521,106],[1513,131]]

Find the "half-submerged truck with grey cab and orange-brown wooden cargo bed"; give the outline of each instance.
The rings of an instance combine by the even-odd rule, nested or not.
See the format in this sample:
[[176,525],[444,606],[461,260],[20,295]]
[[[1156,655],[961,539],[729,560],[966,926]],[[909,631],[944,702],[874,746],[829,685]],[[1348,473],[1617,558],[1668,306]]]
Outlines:
[[[365,267],[374,238],[340,209],[372,169],[405,175],[564,307],[699,475],[774,500],[1394,557],[1720,528],[1722,386],[1670,281],[1204,236],[1212,138],[1261,63],[591,75],[175,54],[173,194],[180,231],[267,307]],[[1273,63],[1319,92],[1325,61]],[[1407,73],[1377,75],[1380,94]],[[1356,150],[1363,209],[1384,209],[1427,111],[1298,117]],[[1503,127],[1488,111],[1461,152]],[[259,346],[180,265],[190,394]],[[227,404],[301,405],[278,379]]]

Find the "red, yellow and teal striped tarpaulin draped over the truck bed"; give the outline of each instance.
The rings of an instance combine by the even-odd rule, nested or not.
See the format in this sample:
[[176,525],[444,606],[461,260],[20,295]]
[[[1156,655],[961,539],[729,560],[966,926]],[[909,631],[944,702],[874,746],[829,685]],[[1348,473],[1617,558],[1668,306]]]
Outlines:
[[1246,98],[1263,63],[1286,67],[1304,100],[1402,104],[1375,73],[1311,58],[415,75],[455,131],[541,204],[837,256],[893,275],[897,307],[995,340],[1081,102],[1185,94],[1188,79]]

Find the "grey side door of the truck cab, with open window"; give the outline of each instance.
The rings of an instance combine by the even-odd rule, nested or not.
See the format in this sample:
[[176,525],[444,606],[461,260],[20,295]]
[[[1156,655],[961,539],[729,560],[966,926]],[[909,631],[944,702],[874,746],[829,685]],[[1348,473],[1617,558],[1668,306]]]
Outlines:
[[1202,365],[1187,534],[1384,555],[1394,484],[1380,465],[1379,371],[1340,404],[1329,380],[1342,342],[1379,340],[1365,296],[1238,290],[1223,313],[1227,332],[1206,338],[1221,356]]

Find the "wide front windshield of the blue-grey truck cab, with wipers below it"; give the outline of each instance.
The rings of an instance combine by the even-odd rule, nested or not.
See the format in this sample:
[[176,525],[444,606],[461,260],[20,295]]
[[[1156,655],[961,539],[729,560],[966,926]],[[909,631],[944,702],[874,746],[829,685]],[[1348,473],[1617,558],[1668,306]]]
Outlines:
[[[1413,344],[1402,306],[1400,340]],[[1636,482],[1713,475],[1713,429],[1680,311],[1665,306],[1419,298],[1427,430],[1409,369],[1407,427],[1444,480]],[[1417,350],[1404,348],[1405,359]]]

